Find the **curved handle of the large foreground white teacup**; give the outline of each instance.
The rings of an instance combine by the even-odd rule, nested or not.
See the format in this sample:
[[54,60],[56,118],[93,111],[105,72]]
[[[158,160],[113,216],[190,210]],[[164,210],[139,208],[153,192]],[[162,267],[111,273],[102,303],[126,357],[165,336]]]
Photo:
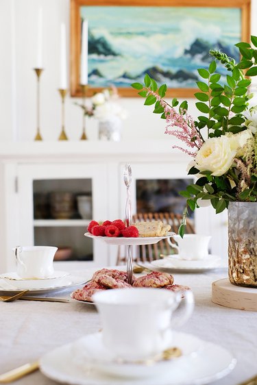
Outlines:
[[178,310],[180,303],[182,303],[183,310],[179,317],[177,316],[175,320],[171,319],[172,327],[180,327],[184,325],[195,308],[195,299],[192,290],[184,290],[183,295],[184,298],[182,298],[182,290],[176,293],[177,307],[174,309],[174,313]]

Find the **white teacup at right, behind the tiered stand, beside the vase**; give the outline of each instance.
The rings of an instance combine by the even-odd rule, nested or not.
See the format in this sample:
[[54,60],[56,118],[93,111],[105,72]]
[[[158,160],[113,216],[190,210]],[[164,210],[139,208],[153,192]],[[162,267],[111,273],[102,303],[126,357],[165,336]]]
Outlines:
[[172,247],[178,249],[182,260],[203,260],[208,256],[210,238],[211,236],[185,234],[183,238],[180,235],[173,236],[178,245],[172,243],[170,238],[168,238],[168,242]]

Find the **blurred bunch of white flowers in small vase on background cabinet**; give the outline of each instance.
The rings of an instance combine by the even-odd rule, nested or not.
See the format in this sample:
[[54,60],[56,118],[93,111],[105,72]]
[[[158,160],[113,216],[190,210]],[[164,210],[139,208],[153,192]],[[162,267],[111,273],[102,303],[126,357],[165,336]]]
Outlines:
[[119,105],[117,88],[105,88],[93,97],[86,99],[85,105],[75,103],[84,110],[86,116],[94,116],[99,121],[108,121],[117,117],[126,119],[127,112]]

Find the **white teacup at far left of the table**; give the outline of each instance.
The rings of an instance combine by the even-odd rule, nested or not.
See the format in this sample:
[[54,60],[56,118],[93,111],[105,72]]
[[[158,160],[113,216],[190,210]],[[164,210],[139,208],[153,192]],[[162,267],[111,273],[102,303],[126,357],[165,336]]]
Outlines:
[[16,246],[17,274],[21,278],[42,279],[53,275],[53,257],[58,247]]

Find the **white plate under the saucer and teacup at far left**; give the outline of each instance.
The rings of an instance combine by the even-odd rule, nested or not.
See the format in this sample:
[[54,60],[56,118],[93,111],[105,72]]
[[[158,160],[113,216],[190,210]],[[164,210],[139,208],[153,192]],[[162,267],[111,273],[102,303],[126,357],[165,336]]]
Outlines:
[[[14,286],[14,282],[15,282],[15,286]],[[51,284],[49,284],[47,280],[40,280],[40,281],[37,280],[36,282],[32,280],[28,280],[26,282],[26,285],[19,286],[20,281],[3,280],[0,278],[0,293],[1,292],[14,293],[19,290],[27,289],[29,290],[28,295],[44,294],[44,293],[50,293],[52,291],[65,290],[66,288],[86,284],[86,282],[87,280],[85,280],[84,277],[82,276],[65,275],[60,280],[53,280]]]

